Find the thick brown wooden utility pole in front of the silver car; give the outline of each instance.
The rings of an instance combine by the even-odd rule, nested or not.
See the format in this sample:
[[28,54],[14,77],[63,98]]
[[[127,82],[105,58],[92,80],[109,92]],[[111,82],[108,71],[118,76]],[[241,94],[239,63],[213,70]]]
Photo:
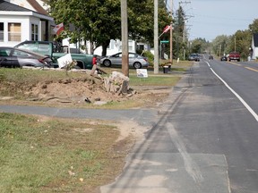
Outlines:
[[127,0],[121,0],[122,73],[129,77]]

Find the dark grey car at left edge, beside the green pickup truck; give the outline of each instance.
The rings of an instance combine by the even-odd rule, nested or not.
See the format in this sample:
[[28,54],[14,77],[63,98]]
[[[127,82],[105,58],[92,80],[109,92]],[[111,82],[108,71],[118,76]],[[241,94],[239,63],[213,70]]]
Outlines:
[[0,47],[0,67],[22,68],[23,66],[43,67],[53,64],[50,57],[15,47]]

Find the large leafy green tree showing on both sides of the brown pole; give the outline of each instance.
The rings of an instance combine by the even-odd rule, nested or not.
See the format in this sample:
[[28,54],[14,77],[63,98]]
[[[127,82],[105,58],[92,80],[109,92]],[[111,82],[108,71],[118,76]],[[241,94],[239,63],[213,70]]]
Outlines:
[[[67,31],[73,42],[90,40],[96,47],[102,46],[102,55],[106,55],[110,39],[121,39],[120,0],[47,0],[47,4],[56,22],[73,23],[76,30]],[[128,0],[129,36],[152,42],[153,9],[153,0]],[[164,8],[159,14],[164,20],[169,19]]]

